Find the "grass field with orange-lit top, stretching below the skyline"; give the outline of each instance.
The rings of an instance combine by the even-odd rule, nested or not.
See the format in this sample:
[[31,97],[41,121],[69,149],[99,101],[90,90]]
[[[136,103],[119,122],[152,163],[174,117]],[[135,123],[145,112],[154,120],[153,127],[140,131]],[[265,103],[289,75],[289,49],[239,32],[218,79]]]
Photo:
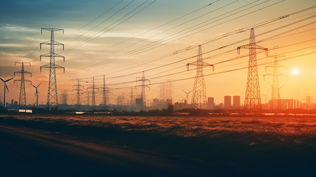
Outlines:
[[188,161],[198,176],[316,176],[314,117],[8,114],[0,124]]

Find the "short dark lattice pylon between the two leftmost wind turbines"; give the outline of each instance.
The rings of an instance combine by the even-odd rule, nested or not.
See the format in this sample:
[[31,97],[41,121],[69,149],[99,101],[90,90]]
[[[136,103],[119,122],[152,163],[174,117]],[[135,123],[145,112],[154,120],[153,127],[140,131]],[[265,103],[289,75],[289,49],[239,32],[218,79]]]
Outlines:
[[[14,80],[15,81],[21,81],[21,89],[20,89],[20,100],[19,100],[19,109],[24,109],[25,112],[26,112],[26,97],[25,97],[25,81],[26,82],[31,82],[29,80],[26,80],[24,78],[24,74],[31,74],[31,77],[32,77],[32,73],[28,72],[28,71],[24,71],[24,64],[30,64],[31,66],[31,63],[26,63],[26,62],[16,62],[16,64],[22,64],[22,70],[21,71],[16,71],[14,72],[14,76],[16,73],[20,73],[21,74],[21,79],[17,79],[17,80]],[[32,84],[32,82],[31,82]]]

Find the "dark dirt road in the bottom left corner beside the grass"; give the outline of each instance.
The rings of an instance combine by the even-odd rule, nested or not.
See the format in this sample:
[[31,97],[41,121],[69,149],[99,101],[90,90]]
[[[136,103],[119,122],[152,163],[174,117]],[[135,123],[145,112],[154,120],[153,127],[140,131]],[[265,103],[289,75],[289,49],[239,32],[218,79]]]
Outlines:
[[194,175],[168,157],[26,128],[0,126],[2,176]]

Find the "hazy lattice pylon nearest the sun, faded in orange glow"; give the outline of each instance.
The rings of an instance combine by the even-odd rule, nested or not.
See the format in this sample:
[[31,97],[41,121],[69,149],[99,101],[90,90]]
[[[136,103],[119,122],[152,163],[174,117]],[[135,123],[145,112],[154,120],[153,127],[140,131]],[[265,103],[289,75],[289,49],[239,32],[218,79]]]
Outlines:
[[279,87],[279,76],[288,76],[287,74],[279,73],[279,68],[286,68],[284,65],[278,64],[278,56],[274,56],[274,63],[272,65],[267,65],[265,67],[266,72],[267,68],[272,67],[273,73],[265,74],[265,76],[273,76],[273,82],[272,82],[272,92],[271,92],[271,101],[270,101],[270,109],[281,109],[281,96],[280,96],[280,87]]

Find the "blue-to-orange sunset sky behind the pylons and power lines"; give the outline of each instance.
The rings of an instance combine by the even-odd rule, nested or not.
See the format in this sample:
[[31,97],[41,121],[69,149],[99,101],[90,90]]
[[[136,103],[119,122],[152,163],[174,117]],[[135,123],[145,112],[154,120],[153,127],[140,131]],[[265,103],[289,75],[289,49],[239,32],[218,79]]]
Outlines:
[[[46,102],[49,69],[50,31],[57,28],[54,39],[55,63],[60,95],[68,93],[68,104],[76,99],[74,79],[81,79],[84,90],[95,85],[102,90],[103,75],[110,88],[109,103],[118,95],[130,98],[131,88],[136,96],[141,92],[142,72],[146,84],[146,98],[160,98],[161,83],[170,81],[173,102],[186,98],[184,91],[193,90],[196,75],[198,45],[203,62],[214,65],[203,68],[206,97],[214,97],[217,104],[224,96],[239,95],[244,102],[249,49],[237,47],[249,44],[250,29],[254,29],[256,44],[268,48],[257,49],[258,79],[261,102],[271,98],[275,56],[280,67],[281,99],[305,102],[311,96],[316,103],[316,2],[313,0],[118,0],[118,1],[22,1],[0,2],[0,77],[14,77],[24,69],[32,73],[25,79],[38,87],[39,104]],[[30,64],[29,64],[30,63]],[[292,70],[299,73],[294,75]],[[265,78],[264,75],[266,74]],[[268,74],[268,75],[267,75]],[[16,74],[15,79],[21,79]],[[137,83],[136,83],[136,80]],[[150,81],[150,82],[149,82]],[[20,82],[8,82],[7,101],[19,100]],[[0,82],[0,88],[4,83]],[[83,89],[83,88],[82,88]],[[25,83],[27,104],[35,103],[35,88]],[[184,90],[184,91],[183,91]],[[0,91],[3,98],[4,91]],[[99,95],[99,93],[97,94]],[[85,104],[86,94],[83,95]],[[188,95],[191,102],[192,92]],[[59,100],[61,98],[59,97]],[[91,99],[90,99],[91,100]],[[100,96],[96,104],[100,104]]]

